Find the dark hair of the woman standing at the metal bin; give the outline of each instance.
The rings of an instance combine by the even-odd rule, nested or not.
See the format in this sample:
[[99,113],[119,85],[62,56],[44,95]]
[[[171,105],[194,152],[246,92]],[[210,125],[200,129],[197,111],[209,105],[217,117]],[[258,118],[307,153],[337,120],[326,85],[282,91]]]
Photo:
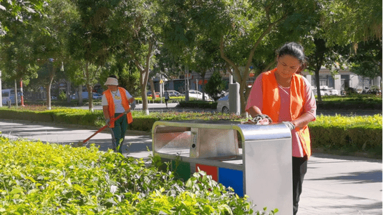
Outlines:
[[300,71],[304,70],[307,65],[307,58],[304,55],[304,48],[302,45],[299,45],[297,42],[287,42],[280,49],[276,51],[278,57],[284,56],[286,54],[293,56],[298,59],[302,64]]

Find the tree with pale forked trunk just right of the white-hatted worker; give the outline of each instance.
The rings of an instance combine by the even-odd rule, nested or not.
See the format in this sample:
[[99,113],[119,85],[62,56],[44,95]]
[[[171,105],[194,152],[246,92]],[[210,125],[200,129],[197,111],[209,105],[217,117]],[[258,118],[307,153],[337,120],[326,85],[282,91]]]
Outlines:
[[146,85],[153,68],[153,56],[159,47],[158,35],[161,31],[159,20],[162,17],[157,8],[157,1],[119,1],[109,23],[116,52],[129,54],[140,72],[142,111],[145,114],[149,114]]

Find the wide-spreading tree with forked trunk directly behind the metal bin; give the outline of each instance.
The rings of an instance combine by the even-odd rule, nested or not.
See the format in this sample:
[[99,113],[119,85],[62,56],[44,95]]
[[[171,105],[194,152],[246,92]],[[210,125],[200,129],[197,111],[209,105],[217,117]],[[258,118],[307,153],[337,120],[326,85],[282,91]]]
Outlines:
[[[275,48],[264,53],[262,47],[268,44],[279,47],[288,40],[302,38],[316,24],[317,19],[312,17],[318,14],[316,1],[165,2],[166,8],[175,8],[171,12],[179,13],[164,24],[164,32],[175,29],[169,37],[182,45],[195,40],[193,29],[194,25],[198,26],[198,33],[207,35],[206,38],[219,45],[221,58],[230,65],[234,79],[240,83],[240,92],[247,88],[254,58],[257,63],[274,62],[275,57],[267,56]],[[246,98],[243,93],[240,93],[240,101],[244,113]]]

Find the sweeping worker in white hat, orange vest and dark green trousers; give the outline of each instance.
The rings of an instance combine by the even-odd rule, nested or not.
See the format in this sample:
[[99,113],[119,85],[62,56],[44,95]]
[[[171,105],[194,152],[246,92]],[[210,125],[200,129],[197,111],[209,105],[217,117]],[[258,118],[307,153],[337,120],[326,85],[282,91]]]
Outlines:
[[[108,127],[112,130],[113,150],[123,153],[122,147],[127,125],[133,121],[132,113],[130,113],[130,104],[134,103],[134,97],[124,88],[118,87],[118,80],[114,75],[109,76],[104,85],[108,89],[102,93],[102,111],[104,112],[104,118]],[[121,113],[125,113],[125,116],[113,122],[114,118]]]

